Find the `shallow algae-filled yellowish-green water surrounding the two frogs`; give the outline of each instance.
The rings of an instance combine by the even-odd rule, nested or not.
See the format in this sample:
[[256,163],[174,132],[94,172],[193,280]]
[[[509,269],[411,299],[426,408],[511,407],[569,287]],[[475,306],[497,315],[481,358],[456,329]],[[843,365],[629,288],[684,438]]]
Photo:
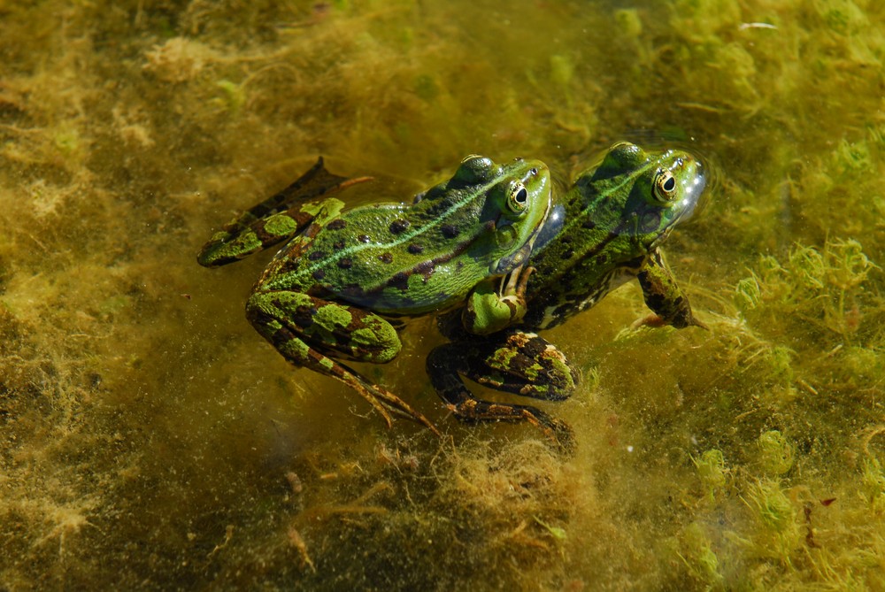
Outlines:
[[[885,589],[885,8],[864,0],[0,1],[0,589]],[[562,182],[627,139],[718,183],[636,286],[544,334],[530,427],[459,424],[432,319],[390,430],[196,251],[317,155],[407,199],[466,154]]]

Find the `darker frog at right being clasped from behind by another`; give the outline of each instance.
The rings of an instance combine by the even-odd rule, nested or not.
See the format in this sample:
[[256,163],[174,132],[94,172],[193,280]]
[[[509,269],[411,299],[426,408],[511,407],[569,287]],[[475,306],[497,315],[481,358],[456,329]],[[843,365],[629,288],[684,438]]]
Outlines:
[[[689,219],[704,193],[701,162],[681,150],[646,152],[628,142],[607,151],[560,196],[525,268],[527,312],[503,333],[480,336],[441,319],[452,342],[427,358],[437,393],[459,419],[527,421],[569,448],[571,429],[530,405],[489,403],[460,375],[490,388],[544,400],[570,396],[580,373],[535,331],[556,327],[636,279],[654,313],[647,325],[704,327],[673,280],[660,245]],[[464,314],[469,317],[471,304]],[[469,322],[466,324],[469,327]]]

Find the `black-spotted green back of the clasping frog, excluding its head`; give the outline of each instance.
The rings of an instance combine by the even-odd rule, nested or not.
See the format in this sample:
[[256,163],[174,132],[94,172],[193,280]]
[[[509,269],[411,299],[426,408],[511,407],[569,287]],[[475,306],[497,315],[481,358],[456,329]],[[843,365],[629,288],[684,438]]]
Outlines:
[[[480,205],[450,192],[414,205],[348,211],[311,241],[288,246],[302,252],[292,258],[284,250],[265,288],[300,288],[380,312],[420,314],[454,304],[488,274],[489,265],[463,260]],[[435,281],[442,278],[444,286]]]

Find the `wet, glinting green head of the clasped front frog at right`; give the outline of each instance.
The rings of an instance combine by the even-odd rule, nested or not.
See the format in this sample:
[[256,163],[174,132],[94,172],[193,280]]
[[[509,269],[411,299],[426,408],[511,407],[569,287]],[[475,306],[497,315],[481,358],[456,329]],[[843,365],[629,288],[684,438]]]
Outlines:
[[704,165],[688,152],[646,152],[619,142],[589,178],[578,182],[589,182],[596,196],[604,196],[603,209],[618,211],[619,234],[653,248],[691,217],[706,181]]

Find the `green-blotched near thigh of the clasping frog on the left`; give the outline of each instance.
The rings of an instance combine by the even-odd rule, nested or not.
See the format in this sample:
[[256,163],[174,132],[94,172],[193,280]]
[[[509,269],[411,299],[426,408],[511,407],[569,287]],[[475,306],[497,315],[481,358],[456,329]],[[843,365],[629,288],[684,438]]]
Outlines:
[[[277,350],[296,358],[312,350],[359,362],[384,364],[402,347],[396,329],[373,312],[329,302],[299,292],[258,292],[246,315]],[[285,331],[281,329],[285,328]],[[296,340],[298,343],[290,343]]]

